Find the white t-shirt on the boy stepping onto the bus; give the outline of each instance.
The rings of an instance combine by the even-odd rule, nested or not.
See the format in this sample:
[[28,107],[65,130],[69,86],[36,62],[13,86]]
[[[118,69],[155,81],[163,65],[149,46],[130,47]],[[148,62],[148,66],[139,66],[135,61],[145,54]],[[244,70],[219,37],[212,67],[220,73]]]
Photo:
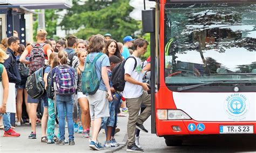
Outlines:
[[[134,56],[135,57],[135,56]],[[138,82],[142,82],[143,74],[142,74],[142,60],[140,60],[138,57],[135,57],[137,60],[137,67],[134,69],[135,60],[133,58],[129,58],[126,60],[124,64],[124,74],[129,74],[133,79],[135,79]],[[143,88],[140,85],[132,84],[130,82],[125,82],[124,91],[123,91],[123,97],[124,98],[138,98],[139,96],[142,96],[143,94]]]

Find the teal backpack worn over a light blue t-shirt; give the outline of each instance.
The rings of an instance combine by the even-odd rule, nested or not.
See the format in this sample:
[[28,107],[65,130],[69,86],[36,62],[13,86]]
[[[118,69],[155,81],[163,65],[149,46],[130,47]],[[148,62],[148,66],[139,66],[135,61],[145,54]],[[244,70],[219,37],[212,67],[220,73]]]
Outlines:
[[89,60],[89,56],[86,57],[86,64],[82,74],[82,92],[83,94],[95,94],[99,89],[100,81],[97,72],[95,63],[102,56],[103,53],[99,53],[92,62]]

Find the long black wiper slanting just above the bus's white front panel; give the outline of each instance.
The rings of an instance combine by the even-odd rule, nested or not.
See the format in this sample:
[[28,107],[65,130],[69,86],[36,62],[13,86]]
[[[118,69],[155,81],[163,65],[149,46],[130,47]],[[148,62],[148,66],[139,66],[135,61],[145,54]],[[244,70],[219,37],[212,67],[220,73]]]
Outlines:
[[214,84],[214,83],[224,83],[224,82],[242,82],[242,81],[251,81],[251,80],[218,80],[218,81],[203,81],[203,82],[209,82],[209,83],[202,83],[202,84],[196,84],[196,85],[188,85],[188,86],[179,86],[177,88],[177,91],[183,91],[193,88],[198,88],[199,86],[204,86],[208,84]]

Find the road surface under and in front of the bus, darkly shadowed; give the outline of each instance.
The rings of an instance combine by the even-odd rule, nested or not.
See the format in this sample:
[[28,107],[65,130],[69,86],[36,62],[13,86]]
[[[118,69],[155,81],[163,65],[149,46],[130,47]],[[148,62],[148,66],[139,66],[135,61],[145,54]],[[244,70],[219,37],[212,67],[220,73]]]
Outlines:
[[[150,129],[150,119],[144,126]],[[140,144],[145,152],[256,152],[256,136],[203,138],[185,141],[181,147],[167,147],[165,139],[156,134],[140,133],[140,136]],[[123,147],[117,152],[126,152],[125,150],[126,147]]]

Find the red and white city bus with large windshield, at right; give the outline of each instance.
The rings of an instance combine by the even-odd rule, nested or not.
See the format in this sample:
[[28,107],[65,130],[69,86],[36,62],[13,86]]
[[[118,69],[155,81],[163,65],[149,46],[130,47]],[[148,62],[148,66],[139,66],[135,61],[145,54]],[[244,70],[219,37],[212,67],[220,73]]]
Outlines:
[[151,133],[169,146],[190,137],[254,137],[256,1],[155,2],[142,12],[151,33]]

